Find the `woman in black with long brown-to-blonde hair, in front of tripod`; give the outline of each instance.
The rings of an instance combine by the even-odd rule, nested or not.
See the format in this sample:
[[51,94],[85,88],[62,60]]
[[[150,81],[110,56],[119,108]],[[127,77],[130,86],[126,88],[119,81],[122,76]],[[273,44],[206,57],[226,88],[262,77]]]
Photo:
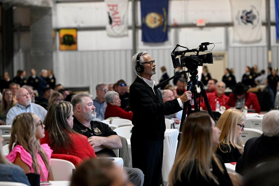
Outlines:
[[232,185],[219,157],[212,149],[219,144],[220,130],[206,112],[187,116],[181,144],[169,175],[169,185]]

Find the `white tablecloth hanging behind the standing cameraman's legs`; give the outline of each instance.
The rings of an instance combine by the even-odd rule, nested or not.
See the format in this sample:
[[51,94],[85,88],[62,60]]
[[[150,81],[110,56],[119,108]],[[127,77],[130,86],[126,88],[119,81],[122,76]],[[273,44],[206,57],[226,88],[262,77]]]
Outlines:
[[[162,174],[163,180],[166,182],[169,180],[169,172],[171,171],[171,168],[174,164],[178,132],[179,131],[177,129],[166,129],[165,131]],[[127,139],[127,142],[129,147],[129,155],[132,157],[130,139]],[[132,161],[130,161],[130,163],[131,162]]]

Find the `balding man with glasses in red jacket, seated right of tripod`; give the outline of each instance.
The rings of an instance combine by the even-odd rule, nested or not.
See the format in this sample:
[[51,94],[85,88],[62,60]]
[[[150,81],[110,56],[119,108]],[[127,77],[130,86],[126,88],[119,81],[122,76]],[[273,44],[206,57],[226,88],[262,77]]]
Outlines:
[[[216,110],[216,102],[219,101],[220,106],[225,106],[229,100],[229,97],[225,94],[226,84],[222,81],[216,83],[216,91],[207,93],[208,101],[211,107],[211,110]],[[201,107],[204,110],[207,110],[205,102],[201,103]]]

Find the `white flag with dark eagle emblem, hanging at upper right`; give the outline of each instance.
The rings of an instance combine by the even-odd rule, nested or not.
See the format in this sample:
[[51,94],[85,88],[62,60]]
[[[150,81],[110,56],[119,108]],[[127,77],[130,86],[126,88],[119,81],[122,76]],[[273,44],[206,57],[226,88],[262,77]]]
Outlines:
[[234,23],[233,40],[242,43],[262,40],[262,0],[230,0],[230,5]]

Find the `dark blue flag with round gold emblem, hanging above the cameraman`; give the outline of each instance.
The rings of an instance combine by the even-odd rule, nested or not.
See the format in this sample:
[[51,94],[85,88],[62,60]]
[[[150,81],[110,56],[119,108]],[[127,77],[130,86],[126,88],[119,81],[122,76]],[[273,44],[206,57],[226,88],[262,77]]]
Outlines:
[[142,41],[168,40],[168,0],[141,0]]

